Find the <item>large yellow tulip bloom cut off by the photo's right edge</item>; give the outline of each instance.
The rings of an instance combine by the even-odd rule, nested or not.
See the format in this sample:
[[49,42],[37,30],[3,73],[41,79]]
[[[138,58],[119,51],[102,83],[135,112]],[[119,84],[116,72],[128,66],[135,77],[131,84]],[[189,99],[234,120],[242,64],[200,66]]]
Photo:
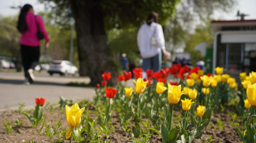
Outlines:
[[247,99],[249,103],[253,106],[256,106],[256,83],[251,84],[249,82],[246,93],[247,93]]

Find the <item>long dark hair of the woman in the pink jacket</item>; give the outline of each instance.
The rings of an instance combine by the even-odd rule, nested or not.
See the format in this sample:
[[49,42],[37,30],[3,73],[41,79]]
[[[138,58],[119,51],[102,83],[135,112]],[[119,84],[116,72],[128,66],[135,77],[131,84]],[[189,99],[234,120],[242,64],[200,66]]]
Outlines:
[[22,33],[27,29],[26,14],[30,8],[33,8],[33,7],[29,4],[26,4],[23,6],[23,8],[20,11],[20,16],[19,16],[18,25],[17,25],[17,29],[18,31],[20,31],[20,33]]

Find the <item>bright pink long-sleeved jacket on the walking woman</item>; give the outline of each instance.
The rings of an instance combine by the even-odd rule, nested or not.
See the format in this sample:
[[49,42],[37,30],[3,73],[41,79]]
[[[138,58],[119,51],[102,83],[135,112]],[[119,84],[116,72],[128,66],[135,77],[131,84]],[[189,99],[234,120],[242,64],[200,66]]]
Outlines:
[[20,37],[21,45],[35,46],[35,47],[40,45],[40,40],[37,37],[38,29],[37,29],[37,25],[35,22],[35,18],[37,20],[39,30],[44,35],[46,42],[49,42],[50,39],[48,38],[48,35],[44,28],[44,22],[41,19],[41,17],[39,17],[38,15],[35,16],[31,12],[27,12],[27,14],[26,14],[27,29],[26,29],[26,31],[23,31],[21,34],[21,37]]

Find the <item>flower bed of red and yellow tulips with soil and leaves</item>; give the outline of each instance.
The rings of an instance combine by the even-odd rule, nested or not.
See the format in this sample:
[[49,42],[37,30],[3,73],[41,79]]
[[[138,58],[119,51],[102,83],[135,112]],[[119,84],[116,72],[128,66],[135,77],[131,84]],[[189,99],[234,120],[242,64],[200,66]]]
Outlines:
[[222,75],[223,68],[215,70],[214,76],[204,75],[198,67],[175,64],[146,70],[142,79],[136,68],[134,88],[126,86],[130,72],[118,76],[116,88],[108,87],[111,73],[104,73],[93,101],[77,104],[61,97],[58,104],[44,105],[41,98],[34,110],[20,104],[16,112],[3,113],[0,141],[254,143],[256,73],[240,74],[240,94],[236,79]]

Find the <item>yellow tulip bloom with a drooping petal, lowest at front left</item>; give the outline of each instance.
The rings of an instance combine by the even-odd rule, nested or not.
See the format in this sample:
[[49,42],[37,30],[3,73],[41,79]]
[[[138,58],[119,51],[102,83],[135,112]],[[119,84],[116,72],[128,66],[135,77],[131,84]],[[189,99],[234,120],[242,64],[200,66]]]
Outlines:
[[70,138],[73,127],[78,126],[81,122],[81,115],[83,112],[84,107],[80,109],[77,103],[75,103],[71,107],[68,107],[66,105],[67,123],[70,125],[70,128],[66,133],[66,139]]

